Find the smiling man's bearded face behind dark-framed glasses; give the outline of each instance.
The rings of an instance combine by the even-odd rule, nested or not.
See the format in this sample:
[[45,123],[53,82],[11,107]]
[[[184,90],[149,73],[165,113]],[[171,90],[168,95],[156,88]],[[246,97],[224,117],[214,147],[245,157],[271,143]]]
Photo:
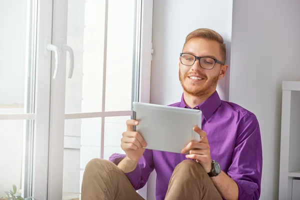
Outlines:
[[[195,56],[208,56],[222,61],[220,44],[213,40],[204,38],[192,38],[186,42],[183,53],[190,53]],[[217,80],[226,73],[227,65],[215,63],[212,69],[200,67],[199,60],[193,65],[187,66],[180,62],[179,57],[179,80],[184,91],[193,96],[204,96],[214,92]],[[196,78],[192,77],[200,77]],[[193,78],[193,79],[192,79]]]

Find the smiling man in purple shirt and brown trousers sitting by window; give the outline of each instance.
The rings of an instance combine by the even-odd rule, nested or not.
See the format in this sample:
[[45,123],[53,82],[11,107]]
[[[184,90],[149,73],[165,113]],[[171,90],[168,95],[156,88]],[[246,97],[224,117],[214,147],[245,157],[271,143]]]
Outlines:
[[143,199],[135,190],[144,186],[153,169],[159,200],[258,199],[259,125],[250,111],[220,100],[216,85],[228,68],[225,57],[223,38],[217,32],[200,28],[189,33],[179,56],[183,94],[170,106],[202,110],[202,129],[194,127],[201,140],[188,143],[182,154],[144,149],[146,141],[132,131],[138,121],[127,120],[121,139],[126,154],[114,153],[110,161],[93,159],[86,165],[82,199]]

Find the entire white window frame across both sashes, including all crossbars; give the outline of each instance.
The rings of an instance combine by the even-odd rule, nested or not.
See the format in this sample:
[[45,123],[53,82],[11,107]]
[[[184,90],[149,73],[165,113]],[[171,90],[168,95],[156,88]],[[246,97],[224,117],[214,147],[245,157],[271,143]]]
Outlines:
[[[66,17],[64,17],[64,20],[61,20],[59,13],[66,13],[67,3],[63,0],[32,0],[31,2],[36,6],[37,13],[32,13],[32,16],[28,15],[27,21],[34,19],[31,29],[36,36],[32,37],[33,40],[31,42],[33,43],[27,42],[26,46],[29,50],[29,46],[34,45],[33,51],[31,48],[31,52],[27,52],[27,55],[30,55],[27,63],[36,64],[36,110],[35,113],[0,114],[0,120],[34,120],[33,151],[32,155],[30,155],[31,158],[33,157],[33,160],[30,161],[33,165],[30,170],[27,167],[25,169],[25,161],[23,161],[22,188],[26,189],[22,191],[22,195],[34,196],[36,199],[60,199],[62,196],[63,148],[64,146],[72,147],[75,145],[75,148],[78,146],[78,141],[68,142],[68,139],[71,138],[64,137],[64,120],[91,117],[103,117],[104,119],[106,116],[131,115],[132,111],[64,113],[64,95],[62,94],[65,93],[65,88],[61,87],[59,83],[65,82],[65,54],[60,60],[60,69],[56,79],[51,79],[54,70],[54,67],[51,67],[51,63],[54,64],[55,60],[53,57],[51,59],[51,52],[46,51],[46,54],[44,54],[44,39],[49,38],[50,43],[56,46],[61,45],[60,38],[65,38],[66,30],[61,31],[57,29],[66,27]],[[141,67],[139,71],[138,100],[149,102],[153,0],[140,0],[140,2],[142,2],[141,12],[139,13],[142,16],[140,21],[142,34],[139,46]],[[30,9],[30,6],[28,3],[27,8]],[[34,51],[35,48],[36,51]],[[54,95],[50,96],[50,93]],[[24,140],[24,146],[25,144],[26,141]],[[101,145],[101,148],[103,148],[103,145]],[[23,157],[27,156],[26,152],[23,152]],[[101,157],[103,157],[103,149],[101,150]],[[24,187],[24,184],[30,185]],[[144,198],[146,198],[146,188],[147,185],[138,191]]]

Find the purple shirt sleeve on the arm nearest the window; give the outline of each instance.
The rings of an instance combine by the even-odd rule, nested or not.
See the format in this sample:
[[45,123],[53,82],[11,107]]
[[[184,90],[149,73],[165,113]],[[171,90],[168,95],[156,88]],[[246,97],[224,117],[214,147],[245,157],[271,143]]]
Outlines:
[[[115,163],[116,165],[125,157],[125,154],[113,153],[109,160]],[[150,173],[154,170],[154,162],[153,162],[153,153],[150,149],[145,149],[144,153],[138,160],[138,164],[136,165],[133,171],[125,173],[129,181],[135,190],[142,188],[148,178]]]

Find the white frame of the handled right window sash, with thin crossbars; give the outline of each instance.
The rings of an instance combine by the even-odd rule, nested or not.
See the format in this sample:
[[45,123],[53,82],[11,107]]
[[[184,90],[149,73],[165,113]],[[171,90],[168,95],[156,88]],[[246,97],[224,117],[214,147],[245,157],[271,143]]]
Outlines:
[[[105,13],[108,10],[108,0],[106,0]],[[137,0],[141,3],[141,10],[138,13],[141,17],[140,28],[141,37],[139,40],[140,57],[139,57],[139,98],[141,102],[150,100],[150,71],[151,71],[151,49],[152,49],[152,9],[153,0]],[[107,14],[105,14],[105,36],[104,46],[107,44]],[[67,0],[53,0],[53,35],[52,43],[56,46],[61,45],[61,38],[66,38],[67,27]],[[107,116],[127,116],[132,115],[131,110],[122,111],[104,111],[105,108],[105,67],[106,67],[106,50],[104,48],[103,63],[103,96],[101,112],[85,113],[64,113],[65,107],[65,76],[66,76],[66,53],[60,57],[59,73],[51,81],[51,100],[50,100],[50,128],[49,128],[49,161],[48,161],[48,199],[61,199],[62,182],[63,182],[63,149],[64,147],[77,148],[78,140],[64,136],[64,121],[71,118],[93,118],[102,117],[101,132],[101,150],[100,157],[103,158],[104,142],[104,117]],[[52,56],[53,57],[53,56]],[[52,58],[52,74],[55,63]],[[71,140],[73,139],[73,140]],[[147,185],[138,190],[140,195],[146,199]]]

